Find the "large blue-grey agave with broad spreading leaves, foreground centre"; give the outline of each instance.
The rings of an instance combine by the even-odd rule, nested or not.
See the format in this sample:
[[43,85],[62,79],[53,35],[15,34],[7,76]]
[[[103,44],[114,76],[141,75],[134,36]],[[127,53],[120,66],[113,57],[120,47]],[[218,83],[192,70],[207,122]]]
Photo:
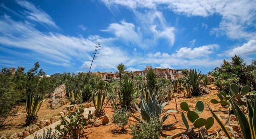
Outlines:
[[[132,114],[132,117],[134,117],[134,119],[136,119],[137,121],[150,121],[150,118],[158,118],[161,119],[163,122],[168,119],[170,116],[174,116],[170,113],[173,112],[178,112],[176,110],[168,110],[164,113],[164,115],[161,117],[162,112],[164,110],[165,105],[168,102],[158,102],[156,99],[156,95],[153,95],[153,99],[151,100],[150,97],[148,97],[148,103],[147,101],[144,99],[143,95],[141,97],[140,100],[140,108],[138,107],[138,105],[136,103],[134,103],[136,109],[138,110],[138,112],[140,113],[140,118],[138,118],[136,115]],[[176,119],[176,117],[175,117]],[[175,123],[172,123],[170,125],[164,125],[163,127],[168,128],[168,127],[172,127],[174,126],[176,123],[178,123],[178,121],[176,120]]]

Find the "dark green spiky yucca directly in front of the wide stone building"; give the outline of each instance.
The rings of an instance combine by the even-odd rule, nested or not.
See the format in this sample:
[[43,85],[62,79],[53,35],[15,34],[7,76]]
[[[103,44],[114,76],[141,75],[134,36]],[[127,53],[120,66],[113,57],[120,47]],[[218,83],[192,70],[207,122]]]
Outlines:
[[148,89],[157,89],[160,85],[158,73],[153,69],[148,70],[146,75]]

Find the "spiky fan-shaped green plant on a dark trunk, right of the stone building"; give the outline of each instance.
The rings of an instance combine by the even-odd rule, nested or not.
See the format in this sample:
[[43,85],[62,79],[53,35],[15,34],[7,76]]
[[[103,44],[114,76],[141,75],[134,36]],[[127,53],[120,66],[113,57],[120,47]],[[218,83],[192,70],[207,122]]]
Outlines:
[[203,79],[203,75],[201,71],[192,70],[188,73],[188,75],[185,75],[184,81],[185,83],[193,86],[193,96],[201,95],[200,91],[200,84],[202,84],[201,80]]

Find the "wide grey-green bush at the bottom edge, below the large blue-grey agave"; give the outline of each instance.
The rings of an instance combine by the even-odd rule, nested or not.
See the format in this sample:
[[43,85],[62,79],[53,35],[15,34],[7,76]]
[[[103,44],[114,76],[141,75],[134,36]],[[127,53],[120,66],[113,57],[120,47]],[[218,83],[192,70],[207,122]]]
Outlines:
[[158,118],[150,118],[149,123],[140,122],[140,125],[130,125],[133,139],[159,139],[163,122]]

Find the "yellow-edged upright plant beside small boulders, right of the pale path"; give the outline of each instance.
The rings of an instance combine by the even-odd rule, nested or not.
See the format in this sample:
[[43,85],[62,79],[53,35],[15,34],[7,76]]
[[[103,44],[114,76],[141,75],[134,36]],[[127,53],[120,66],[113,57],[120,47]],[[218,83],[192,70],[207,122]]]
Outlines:
[[92,102],[95,107],[94,115],[96,117],[103,116],[105,114],[104,109],[108,104],[108,101],[112,98],[112,95],[108,99],[106,105],[103,107],[106,98],[106,93],[102,93],[102,90],[94,90],[92,93]]

